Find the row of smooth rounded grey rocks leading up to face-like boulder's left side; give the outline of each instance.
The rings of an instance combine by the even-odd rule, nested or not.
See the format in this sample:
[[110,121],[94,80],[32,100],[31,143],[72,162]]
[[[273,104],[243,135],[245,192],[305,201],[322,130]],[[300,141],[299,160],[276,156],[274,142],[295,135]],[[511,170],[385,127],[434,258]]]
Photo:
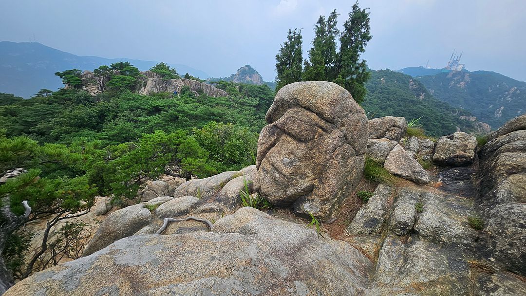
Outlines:
[[[239,208],[239,191],[244,189],[247,182],[252,193],[251,184],[255,178],[256,166],[249,166],[240,171],[222,172],[205,179],[186,181],[177,187],[175,192],[171,191],[173,196],[155,197],[138,205],[117,210],[100,223],[93,239],[84,250],[84,256],[134,234],[154,234],[161,227],[164,218],[181,218],[195,214],[217,220]],[[169,190],[164,181],[154,181],[148,186],[163,193]],[[206,230],[206,227],[199,222],[188,221],[170,226],[165,233],[194,232],[197,229]]]

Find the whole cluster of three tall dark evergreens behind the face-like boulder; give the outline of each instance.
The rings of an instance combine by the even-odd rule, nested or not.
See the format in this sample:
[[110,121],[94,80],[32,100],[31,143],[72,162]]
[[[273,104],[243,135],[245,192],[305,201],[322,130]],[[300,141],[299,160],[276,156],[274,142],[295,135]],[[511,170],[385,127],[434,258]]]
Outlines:
[[[343,23],[343,30],[337,28],[336,9],[326,19],[320,16],[314,26],[315,37],[309,50],[309,59],[302,68],[301,30],[290,30],[287,40],[276,55],[276,90],[296,81],[332,81],[351,93],[361,103],[369,79],[366,60],[360,60],[365,47],[371,40],[369,12],[361,9],[356,2]],[[340,40],[336,51],[336,39]]]

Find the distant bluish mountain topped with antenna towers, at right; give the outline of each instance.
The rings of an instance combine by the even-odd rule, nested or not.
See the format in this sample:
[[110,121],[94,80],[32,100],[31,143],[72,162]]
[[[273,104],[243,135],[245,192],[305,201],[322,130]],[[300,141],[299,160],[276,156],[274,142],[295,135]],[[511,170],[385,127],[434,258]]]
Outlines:
[[467,109],[497,129],[526,113],[526,83],[488,72],[450,72],[416,78],[434,97]]

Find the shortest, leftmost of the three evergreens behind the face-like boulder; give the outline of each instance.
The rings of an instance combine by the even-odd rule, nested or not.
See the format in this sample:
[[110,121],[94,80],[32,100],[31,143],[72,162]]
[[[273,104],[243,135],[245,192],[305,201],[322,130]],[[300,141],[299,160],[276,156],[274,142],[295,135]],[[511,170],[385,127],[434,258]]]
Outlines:
[[290,30],[287,41],[276,55],[276,91],[287,84],[301,80],[303,52],[301,50],[301,29]]

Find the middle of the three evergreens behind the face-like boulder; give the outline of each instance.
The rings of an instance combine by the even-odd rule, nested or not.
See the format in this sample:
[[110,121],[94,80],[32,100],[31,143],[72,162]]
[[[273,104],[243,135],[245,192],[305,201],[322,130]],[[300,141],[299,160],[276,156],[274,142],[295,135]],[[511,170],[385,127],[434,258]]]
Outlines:
[[339,34],[339,30],[336,28],[337,16],[335,9],[327,21],[325,16],[320,16],[314,26],[315,37],[312,39],[312,48],[309,50],[309,60],[305,60],[304,63],[304,81],[335,80],[336,37]]

